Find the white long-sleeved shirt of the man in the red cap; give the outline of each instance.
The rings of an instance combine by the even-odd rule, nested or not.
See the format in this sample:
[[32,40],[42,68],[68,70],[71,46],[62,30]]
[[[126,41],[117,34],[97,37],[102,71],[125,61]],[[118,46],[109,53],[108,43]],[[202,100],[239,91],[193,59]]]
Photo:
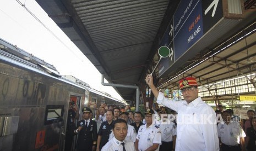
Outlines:
[[186,101],[168,100],[159,92],[156,102],[178,113],[176,151],[219,150],[216,113],[201,97],[188,104]]

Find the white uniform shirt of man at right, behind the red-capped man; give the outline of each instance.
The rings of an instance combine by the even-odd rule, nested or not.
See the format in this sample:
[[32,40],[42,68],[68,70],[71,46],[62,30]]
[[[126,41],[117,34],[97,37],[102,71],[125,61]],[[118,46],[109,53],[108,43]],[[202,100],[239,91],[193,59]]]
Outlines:
[[246,133],[236,121],[231,121],[228,125],[222,121],[218,124],[217,130],[221,142],[230,146],[237,146],[240,143],[240,137],[246,137]]

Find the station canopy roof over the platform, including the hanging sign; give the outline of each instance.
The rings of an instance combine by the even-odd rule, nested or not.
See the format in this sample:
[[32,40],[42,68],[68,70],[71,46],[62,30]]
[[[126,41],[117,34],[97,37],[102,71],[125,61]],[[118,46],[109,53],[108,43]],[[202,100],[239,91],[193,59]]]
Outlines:
[[[171,53],[153,73],[159,89],[256,72],[255,0],[36,1],[109,83],[144,89],[163,45]],[[115,89],[135,100],[135,89]]]

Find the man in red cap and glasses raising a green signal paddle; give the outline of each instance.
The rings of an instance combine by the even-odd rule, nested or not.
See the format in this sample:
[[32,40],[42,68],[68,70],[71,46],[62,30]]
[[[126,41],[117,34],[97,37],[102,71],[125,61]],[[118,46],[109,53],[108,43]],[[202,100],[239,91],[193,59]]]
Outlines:
[[177,139],[175,150],[219,150],[216,114],[201,97],[198,97],[197,81],[193,77],[179,80],[183,101],[168,100],[153,84],[152,75],[146,83],[157,98],[157,103],[173,109],[177,116]]

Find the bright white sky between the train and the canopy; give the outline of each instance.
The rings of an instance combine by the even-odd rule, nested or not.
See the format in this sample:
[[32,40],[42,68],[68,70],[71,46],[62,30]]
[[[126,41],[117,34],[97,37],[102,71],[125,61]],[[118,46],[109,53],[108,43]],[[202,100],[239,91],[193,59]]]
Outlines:
[[[61,75],[73,75],[91,88],[122,97],[101,85],[101,74],[34,0],[19,0],[50,31],[15,0],[0,0],[0,38],[55,66]],[[107,81],[105,80],[105,83]]]

